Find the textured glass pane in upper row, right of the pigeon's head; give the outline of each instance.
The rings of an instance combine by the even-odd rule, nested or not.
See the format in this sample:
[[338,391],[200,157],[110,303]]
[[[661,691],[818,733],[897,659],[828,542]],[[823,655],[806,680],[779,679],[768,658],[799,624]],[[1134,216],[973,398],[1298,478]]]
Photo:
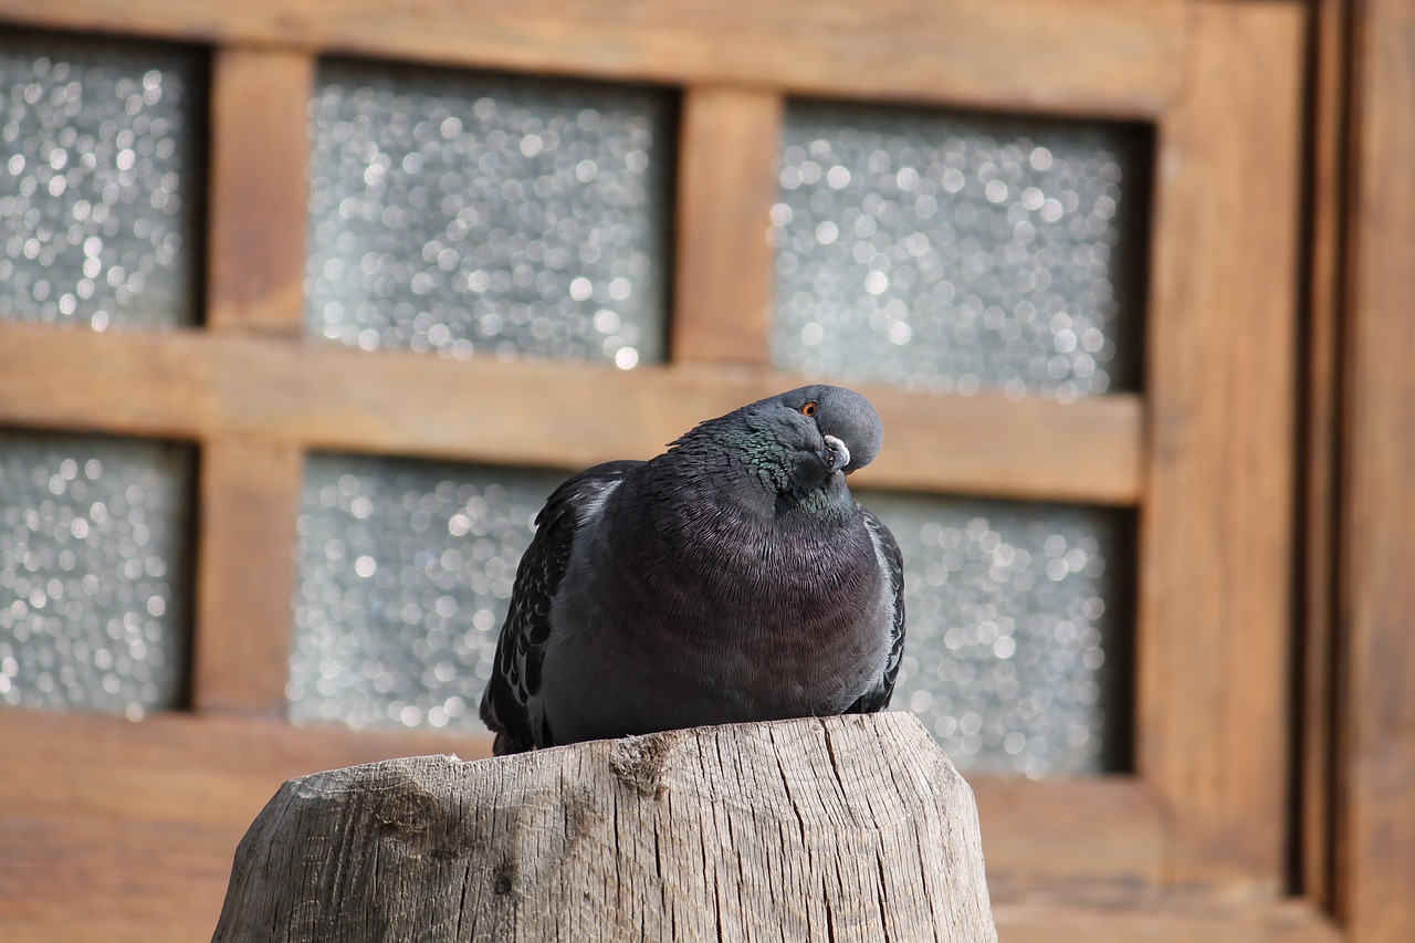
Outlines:
[[1135,387],[1139,129],[792,105],[778,171],[778,367],[1058,399]]

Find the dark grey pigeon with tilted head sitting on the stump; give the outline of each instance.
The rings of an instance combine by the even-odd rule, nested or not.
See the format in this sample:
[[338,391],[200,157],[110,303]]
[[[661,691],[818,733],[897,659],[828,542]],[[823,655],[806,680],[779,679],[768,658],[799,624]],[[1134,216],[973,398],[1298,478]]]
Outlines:
[[565,481],[481,699],[494,752],[884,709],[904,566],[846,487],[883,435],[860,394],[801,387]]

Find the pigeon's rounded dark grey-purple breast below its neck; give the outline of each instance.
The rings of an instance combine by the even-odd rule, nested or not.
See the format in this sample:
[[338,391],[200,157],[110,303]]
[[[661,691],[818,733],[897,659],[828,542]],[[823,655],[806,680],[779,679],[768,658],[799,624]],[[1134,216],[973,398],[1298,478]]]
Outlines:
[[576,547],[574,590],[552,610],[555,729],[838,714],[883,673],[893,602],[862,520],[822,528],[719,508],[618,525]]

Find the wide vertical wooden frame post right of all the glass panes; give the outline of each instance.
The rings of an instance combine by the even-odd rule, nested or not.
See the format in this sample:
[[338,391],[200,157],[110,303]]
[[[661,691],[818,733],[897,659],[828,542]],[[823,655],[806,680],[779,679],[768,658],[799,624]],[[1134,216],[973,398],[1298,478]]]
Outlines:
[[1173,879],[1286,878],[1296,245],[1305,8],[1191,4],[1159,125],[1140,517],[1139,773]]

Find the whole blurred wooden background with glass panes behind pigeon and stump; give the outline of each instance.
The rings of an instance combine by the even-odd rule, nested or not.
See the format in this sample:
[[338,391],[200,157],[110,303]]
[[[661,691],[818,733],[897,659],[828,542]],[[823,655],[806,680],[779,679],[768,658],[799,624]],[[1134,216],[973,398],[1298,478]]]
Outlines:
[[1408,939],[1401,4],[0,23],[0,936],[488,755],[549,491],[821,379],[1005,939]]

